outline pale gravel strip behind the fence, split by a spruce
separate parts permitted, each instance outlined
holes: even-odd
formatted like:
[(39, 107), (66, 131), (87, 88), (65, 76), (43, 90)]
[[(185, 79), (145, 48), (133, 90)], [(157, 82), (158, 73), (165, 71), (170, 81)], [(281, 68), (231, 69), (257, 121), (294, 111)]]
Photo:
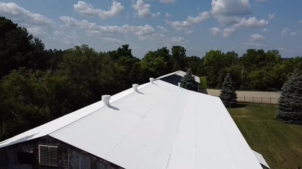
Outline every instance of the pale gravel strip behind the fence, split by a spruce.
[[(207, 89), (208, 94), (219, 96), (220, 90)], [(238, 97), (274, 97), (279, 98), (280, 92), (261, 92), (261, 91), (236, 91)]]

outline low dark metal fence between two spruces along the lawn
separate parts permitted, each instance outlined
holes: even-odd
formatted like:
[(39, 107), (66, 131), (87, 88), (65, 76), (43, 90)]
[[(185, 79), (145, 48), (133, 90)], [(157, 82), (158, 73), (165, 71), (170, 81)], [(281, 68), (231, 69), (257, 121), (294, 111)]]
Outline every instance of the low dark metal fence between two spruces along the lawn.
[(237, 101), (242, 103), (277, 104), (277, 97), (247, 97), (237, 96)]

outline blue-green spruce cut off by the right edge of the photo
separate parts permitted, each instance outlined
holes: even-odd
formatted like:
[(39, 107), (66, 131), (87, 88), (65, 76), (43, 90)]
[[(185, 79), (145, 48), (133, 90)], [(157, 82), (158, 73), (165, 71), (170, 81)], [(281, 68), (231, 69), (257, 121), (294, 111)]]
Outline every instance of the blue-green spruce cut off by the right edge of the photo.
[(302, 125), (302, 74), (298, 69), (284, 83), (277, 108), (277, 120)]

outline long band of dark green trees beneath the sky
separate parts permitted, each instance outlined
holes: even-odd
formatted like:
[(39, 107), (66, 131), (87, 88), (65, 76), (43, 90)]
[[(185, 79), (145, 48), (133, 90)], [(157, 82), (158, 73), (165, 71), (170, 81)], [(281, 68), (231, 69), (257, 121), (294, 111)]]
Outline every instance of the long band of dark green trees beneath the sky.
[(230, 73), (236, 89), (267, 90), (280, 88), (294, 68), (301, 70), (302, 58), (282, 60), (277, 50), (255, 49), (242, 57), (219, 50), (189, 57), (184, 47), (173, 46), (139, 59), (127, 44), (108, 52), (88, 45), (45, 49), (41, 39), (0, 16), (0, 140), (97, 102), (101, 95), (189, 68), (206, 76), (209, 87), (220, 88)]

